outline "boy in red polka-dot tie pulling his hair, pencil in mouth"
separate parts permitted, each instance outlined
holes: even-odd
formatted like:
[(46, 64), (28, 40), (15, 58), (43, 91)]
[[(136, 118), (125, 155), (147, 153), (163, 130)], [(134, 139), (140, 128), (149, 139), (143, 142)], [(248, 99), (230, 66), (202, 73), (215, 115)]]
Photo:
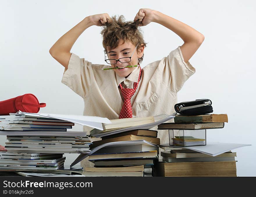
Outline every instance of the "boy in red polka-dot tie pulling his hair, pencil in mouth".
[[(150, 22), (172, 30), (184, 44), (141, 69), (146, 43), (138, 26)], [(103, 70), (109, 66), (92, 64), (70, 53), (81, 33), (93, 25), (104, 26), (101, 33), (105, 61), (112, 70)], [(200, 32), (176, 19), (156, 10), (140, 9), (134, 22), (124, 22), (122, 16), (111, 19), (108, 14), (88, 16), (58, 39), (49, 52), (65, 67), (62, 83), (83, 98), (83, 115), (109, 119), (147, 117), (175, 112), (177, 92), (195, 72), (188, 61), (203, 40)], [(152, 129), (157, 130), (157, 126)], [(91, 128), (85, 126), (83, 130)], [(167, 131), (159, 131), (158, 137), (161, 143), (168, 143)], [(90, 162), (85, 165), (90, 166)]]

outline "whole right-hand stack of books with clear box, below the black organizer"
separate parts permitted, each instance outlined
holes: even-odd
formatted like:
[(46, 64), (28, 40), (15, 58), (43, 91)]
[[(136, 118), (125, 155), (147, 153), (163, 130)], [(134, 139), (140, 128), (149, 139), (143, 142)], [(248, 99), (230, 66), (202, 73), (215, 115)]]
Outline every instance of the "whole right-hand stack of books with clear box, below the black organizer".
[[(223, 128), (224, 122), (227, 121), (227, 114), (176, 115), (174, 123), (158, 125), (158, 129), (169, 129), (169, 135), (174, 133), (173, 130), (182, 130), (183, 135), (173, 134), (170, 137), (169, 145), (172, 147), (169, 147), (168, 151), (161, 152), (162, 160), (156, 163), (154, 176), (237, 176), (235, 152), (227, 151), (211, 156), (185, 148), (207, 145), (206, 129)], [(205, 130), (205, 138), (195, 137), (199, 130)], [(190, 131), (191, 136), (184, 135), (185, 131)], [(214, 149), (212, 144), (209, 146)]]

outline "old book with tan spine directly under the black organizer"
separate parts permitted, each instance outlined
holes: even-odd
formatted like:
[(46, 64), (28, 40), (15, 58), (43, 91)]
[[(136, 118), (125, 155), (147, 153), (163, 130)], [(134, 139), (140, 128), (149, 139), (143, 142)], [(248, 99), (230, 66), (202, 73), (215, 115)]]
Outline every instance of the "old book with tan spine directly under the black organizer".
[(189, 122), (228, 122), (227, 114), (205, 114), (205, 115), (176, 115), (175, 123)]

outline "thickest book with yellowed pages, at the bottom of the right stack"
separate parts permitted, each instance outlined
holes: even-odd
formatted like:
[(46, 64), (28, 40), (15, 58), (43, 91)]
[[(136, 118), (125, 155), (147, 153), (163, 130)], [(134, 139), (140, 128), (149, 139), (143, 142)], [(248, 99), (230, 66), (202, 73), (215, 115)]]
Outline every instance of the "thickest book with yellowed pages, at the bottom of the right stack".
[(237, 176), (236, 161), (156, 162), (154, 176)]

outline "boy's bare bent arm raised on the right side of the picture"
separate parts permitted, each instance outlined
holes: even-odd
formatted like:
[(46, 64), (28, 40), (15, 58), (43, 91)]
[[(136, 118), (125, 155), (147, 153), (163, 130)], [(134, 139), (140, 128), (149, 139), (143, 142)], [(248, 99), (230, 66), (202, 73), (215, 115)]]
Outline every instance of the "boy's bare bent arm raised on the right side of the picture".
[(186, 63), (198, 50), (205, 39), (204, 35), (192, 27), (156, 10), (140, 9), (134, 18), (134, 21), (138, 19), (141, 21), (141, 26), (145, 26), (150, 22), (156, 22), (172, 30), (179, 37), (181, 37), (184, 44), (180, 47), (180, 49)]

